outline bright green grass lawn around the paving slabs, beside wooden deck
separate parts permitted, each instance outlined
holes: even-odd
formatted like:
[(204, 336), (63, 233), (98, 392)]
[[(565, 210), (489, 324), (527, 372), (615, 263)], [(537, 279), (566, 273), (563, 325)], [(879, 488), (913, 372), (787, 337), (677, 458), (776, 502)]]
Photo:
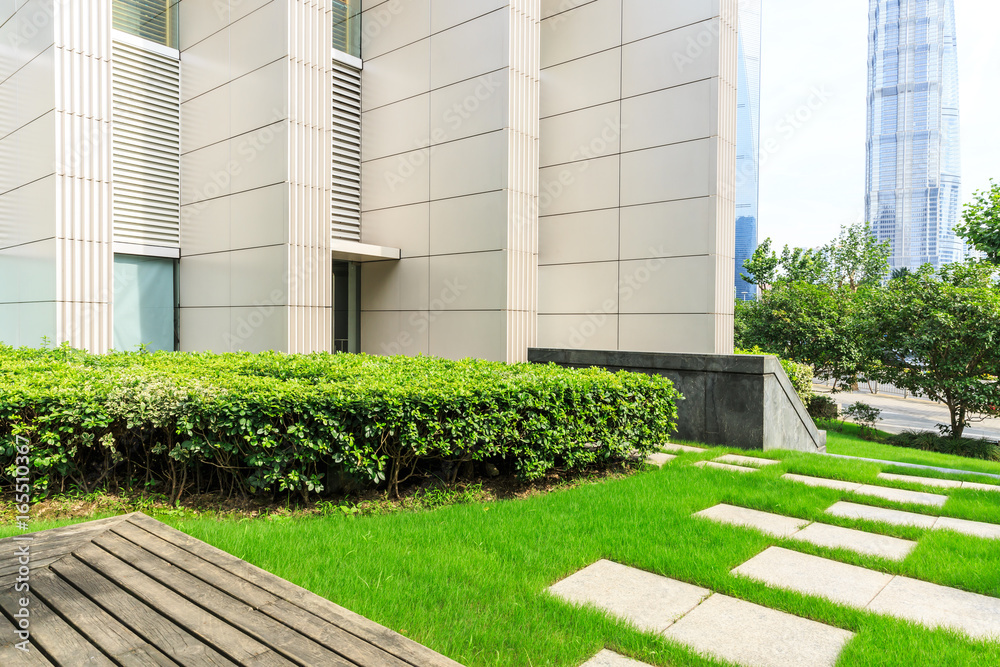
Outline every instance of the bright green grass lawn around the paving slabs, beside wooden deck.
[[(831, 436), (843, 444), (850, 433)], [(733, 450), (684, 454), (662, 470), (523, 500), (433, 511), (270, 520), (159, 518), (469, 667), (576, 666), (604, 647), (662, 667), (722, 664), (545, 592), (600, 558), (855, 632), (840, 667), (1000, 664), (998, 643), (927, 630), (730, 574), (766, 547), (779, 545), (1000, 597), (1000, 541), (824, 514), (834, 502), (852, 499), (1000, 523), (1000, 493), (950, 490), (944, 508), (929, 509), (780, 479), (784, 472), (796, 472), (871, 482), (889, 467), (880, 464), (766, 452), (762, 456), (780, 459), (782, 465), (752, 475), (690, 465), (724, 451)], [(910, 452), (892, 448), (891, 453), (898, 458)], [(860, 527), (919, 544), (906, 560), (893, 562), (692, 517), (720, 502)], [(35, 526), (42, 527), (49, 526)], [(2, 535), (11, 532), (0, 530)]]

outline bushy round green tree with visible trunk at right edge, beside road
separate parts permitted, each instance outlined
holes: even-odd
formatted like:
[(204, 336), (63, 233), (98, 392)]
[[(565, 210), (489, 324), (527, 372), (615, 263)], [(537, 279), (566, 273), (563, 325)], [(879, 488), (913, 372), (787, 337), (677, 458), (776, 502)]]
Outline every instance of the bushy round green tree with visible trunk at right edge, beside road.
[(951, 433), (1000, 405), (1000, 290), (981, 262), (925, 266), (862, 299), (858, 333), (880, 363), (867, 369), (948, 406)]

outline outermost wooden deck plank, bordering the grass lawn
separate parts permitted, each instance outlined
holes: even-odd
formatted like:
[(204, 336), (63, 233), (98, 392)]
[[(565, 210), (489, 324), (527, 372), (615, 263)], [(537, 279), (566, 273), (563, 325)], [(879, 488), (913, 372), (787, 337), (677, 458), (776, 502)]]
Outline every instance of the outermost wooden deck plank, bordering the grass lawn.
[(360, 614), (334, 604), (324, 597), (296, 586), (266, 570), (251, 565), (221, 549), (171, 528), (145, 514), (133, 514), (129, 521), (142, 526), (154, 535), (190, 551), (221, 568), (251, 581), (264, 590), (323, 618), (347, 632), (378, 646), (394, 656), (417, 667), (462, 667), (461, 664), (436, 653), (422, 644), (393, 632)]

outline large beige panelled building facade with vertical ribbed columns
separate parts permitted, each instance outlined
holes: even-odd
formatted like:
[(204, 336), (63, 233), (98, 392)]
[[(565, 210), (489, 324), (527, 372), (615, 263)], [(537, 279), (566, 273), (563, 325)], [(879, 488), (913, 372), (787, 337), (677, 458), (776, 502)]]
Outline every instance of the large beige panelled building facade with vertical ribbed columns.
[(0, 341), (730, 352), (736, 5), (0, 2)]

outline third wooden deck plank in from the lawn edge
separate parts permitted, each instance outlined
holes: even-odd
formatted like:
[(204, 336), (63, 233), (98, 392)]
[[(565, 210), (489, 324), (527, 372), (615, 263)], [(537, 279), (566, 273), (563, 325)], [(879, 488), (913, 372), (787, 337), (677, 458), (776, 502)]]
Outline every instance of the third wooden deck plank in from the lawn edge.
[(128, 562), (135, 569), (183, 595), (202, 609), (211, 610), (213, 614), (226, 619), (233, 627), (239, 628), (292, 660), (304, 665), (354, 667), (353, 663), (348, 662), (330, 649), (252, 609), (184, 570), (174, 567), (171, 563), (136, 546), (123, 537), (113, 533), (105, 533), (95, 539), (94, 543)]

